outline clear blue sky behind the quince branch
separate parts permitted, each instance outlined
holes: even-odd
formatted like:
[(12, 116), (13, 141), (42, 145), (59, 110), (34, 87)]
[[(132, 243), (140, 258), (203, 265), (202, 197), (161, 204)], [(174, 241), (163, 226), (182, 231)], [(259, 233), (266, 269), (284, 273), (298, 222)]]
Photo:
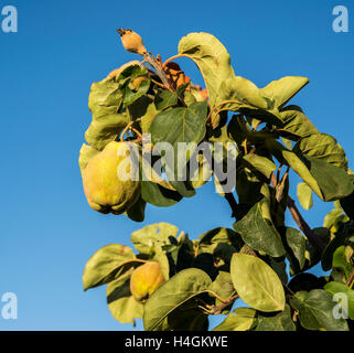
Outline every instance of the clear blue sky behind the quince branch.
[[(232, 226), (212, 184), (173, 207), (149, 206), (142, 224), (87, 205), (77, 158), (90, 122), (89, 87), (136, 58), (124, 51), (119, 26), (136, 30), (163, 57), (175, 54), (189, 32), (210, 32), (229, 51), (237, 75), (258, 86), (309, 77), (293, 103), (337, 138), (353, 168), (353, 1), (0, 0), (0, 10), (6, 4), (18, 8), (19, 32), (0, 31), (0, 298), (17, 293), (19, 318), (0, 315), (0, 330), (131, 330), (110, 315), (105, 288), (83, 291), (89, 256), (106, 244), (129, 245), (131, 232), (155, 222), (173, 223), (192, 238)], [(348, 9), (348, 33), (332, 31), (337, 4)], [(331, 206), (317, 200), (305, 214), (310, 225), (321, 226)]]

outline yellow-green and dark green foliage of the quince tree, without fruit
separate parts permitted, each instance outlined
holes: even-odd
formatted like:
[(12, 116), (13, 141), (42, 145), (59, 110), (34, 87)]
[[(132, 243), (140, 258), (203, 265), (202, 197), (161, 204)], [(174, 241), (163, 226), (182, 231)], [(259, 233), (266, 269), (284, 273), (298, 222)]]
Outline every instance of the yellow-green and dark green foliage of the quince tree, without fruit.
[[(128, 38), (122, 41), (139, 52)], [(147, 204), (173, 206), (194, 196), (213, 175), (235, 222), (233, 228), (211, 229), (197, 239), (171, 224), (148, 225), (131, 234), (135, 249), (118, 244), (98, 249), (86, 264), (84, 289), (108, 285), (115, 319), (142, 318), (146, 330), (205, 331), (208, 318), (218, 314), (225, 319), (215, 331), (353, 328), (354, 176), (335, 138), (321, 133), (300, 107), (288, 105), (309, 79), (287, 76), (258, 88), (235, 75), (226, 49), (208, 33), (184, 36), (179, 54), (164, 63), (148, 52), (141, 55), (151, 67), (128, 63), (93, 84), (82, 173), (111, 141), (132, 141), (140, 153), (140, 196), (128, 200), (126, 216), (142, 222)], [(197, 65), (206, 90), (172, 61), (181, 56)], [(151, 135), (149, 143), (143, 133)], [(159, 142), (172, 146), (172, 157), (158, 150), (152, 161), (146, 160), (143, 152)], [(195, 145), (181, 156), (179, 142)], [(195, 148), (203, 142), (211, 146), (212, 163)], [(235, 191), (226, 190), (221, 178), (230, 156)], [(193, 158), (196, 168), (185, 172)], [(161, 162), (161, 173), (146, 175), (142, 167), (155, 162)], [(173, 178), (181, 172), (185, 180)], [(313, 206), (313, 195), (334, 202), (322, 227), (310, 228), (289, 195), (293, 173), (301, 179), (297, 197), (303, 208)], [(298, 228), (286, 225), (287, 210)], [(131, 275), (152, 261), (165, 281), (146, 301), (137, 301)], [(328, 276), (307, 272), (318, 264)], [(346, 307), (336, 301), (337, 293), (345, 295)], [(248, 307), (237, 307), (239, 299)]]

